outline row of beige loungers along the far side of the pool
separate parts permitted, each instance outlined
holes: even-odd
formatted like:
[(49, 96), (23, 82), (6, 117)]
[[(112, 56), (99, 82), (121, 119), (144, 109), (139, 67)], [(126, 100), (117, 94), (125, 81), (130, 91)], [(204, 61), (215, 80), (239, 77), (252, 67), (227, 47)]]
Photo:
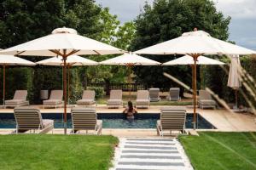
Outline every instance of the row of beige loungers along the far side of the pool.
[[(122, 99), (122, 90), (111, 90), (110, 98), (108, 99), (107, 106), (108, 108), (119, 108), (123, 106)], [(179, 88), (170, 88), (170, 94), (167, 97), (169, 100), (180, 100), (179, 97), (180, 90)], [(16, 90), (14, 99), (6, 100), (4, 107), (16, 107), (22, 105), (29, 105), (29, 102), (26, 100), (27, 91), (26, 90)], [(211, 94), (206, 90), (199, 91), (199, 105), (203, 108), (216, 108), (216, 102), (212, 99)], [(63, 105), (63, 91), (62, 90), (52, 90), (49, 96), (49, 99), (43, 101), (43, 108), (46, 107), (60, 107)], [(159, 88), (149, 88), (148, 90), (138, 90), (136, 106), (137, 108), (148, 108), (150, 101), (160, 101), (160, 89)], [(93, 90), (84, 90), (82, 99), (77, 101), (77, 105), (96, 105), (95, 100), (95, 91)]]

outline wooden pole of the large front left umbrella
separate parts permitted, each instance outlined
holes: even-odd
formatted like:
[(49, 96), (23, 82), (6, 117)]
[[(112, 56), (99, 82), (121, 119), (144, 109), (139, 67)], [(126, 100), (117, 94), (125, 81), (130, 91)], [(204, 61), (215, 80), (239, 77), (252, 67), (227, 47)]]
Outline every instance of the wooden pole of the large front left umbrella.
[(63, 95), (64, 95), (64, 134), (67, 134), (67, 56), (64, 54), (62, 56), (64, 61), (64, 68), (63, 68)]

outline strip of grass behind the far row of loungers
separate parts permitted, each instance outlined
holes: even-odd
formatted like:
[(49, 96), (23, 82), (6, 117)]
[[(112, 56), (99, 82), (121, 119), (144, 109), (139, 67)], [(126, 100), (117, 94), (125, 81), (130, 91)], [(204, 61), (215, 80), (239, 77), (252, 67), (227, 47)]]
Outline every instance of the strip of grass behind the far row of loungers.
[[(109, 99), (109, 96), (103, 96), (100, 99), (97, 99), (97, 104), (106, 105), (108, 99)], [(131, 95), (131, 98), (129, 98), (129, 95), (127, 94), (123, 95), (123, 101), (125, 105), (129, 100), (131, 100), (132, 103), (135, 105), (136, 95)], [(181, 101), (169, 101), (167, 99), (161, 99), (158, 102), (150, 102), (150, 105), (192, 105), (192, 101), (191, 99), (182, 99)]]

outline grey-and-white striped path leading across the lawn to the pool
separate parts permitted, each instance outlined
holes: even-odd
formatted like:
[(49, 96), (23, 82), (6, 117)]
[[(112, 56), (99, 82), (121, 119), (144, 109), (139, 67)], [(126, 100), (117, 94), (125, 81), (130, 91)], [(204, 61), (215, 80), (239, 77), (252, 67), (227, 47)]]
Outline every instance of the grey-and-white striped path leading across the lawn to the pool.
[(120, 138), (111, 170), (192, 170), (177, 139)]

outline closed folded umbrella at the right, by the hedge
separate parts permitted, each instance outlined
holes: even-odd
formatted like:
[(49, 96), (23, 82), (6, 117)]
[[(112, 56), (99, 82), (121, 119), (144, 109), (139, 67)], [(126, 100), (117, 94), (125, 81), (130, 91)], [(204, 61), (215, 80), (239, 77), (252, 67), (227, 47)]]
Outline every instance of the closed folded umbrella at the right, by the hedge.
[(237, 100), (238, 100), (238, 89), (241, 87), (241, 64), (239, 55), (230, 55), (230, 72), (228, 79), (228, 86), (235, 90), (236, 95), (236, 105), (234, 109), (237, 109)]

